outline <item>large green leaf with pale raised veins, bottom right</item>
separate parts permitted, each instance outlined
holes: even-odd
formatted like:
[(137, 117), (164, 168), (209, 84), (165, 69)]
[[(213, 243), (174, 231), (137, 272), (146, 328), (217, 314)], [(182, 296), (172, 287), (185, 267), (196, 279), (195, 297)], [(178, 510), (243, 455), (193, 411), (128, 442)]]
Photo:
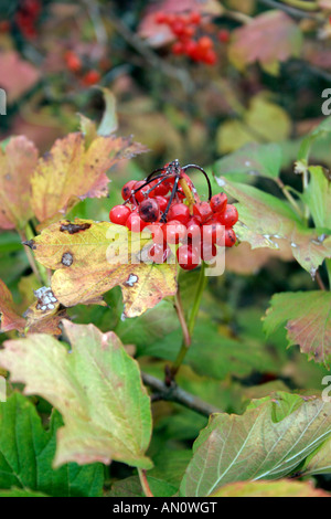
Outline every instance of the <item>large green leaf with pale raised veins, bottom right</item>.
[(181, 496), (209, 496), (236, 481), (293, 473), (331, 436), (331, 403), (275, 393), (242, 415), (214, 414), (193, 446)]

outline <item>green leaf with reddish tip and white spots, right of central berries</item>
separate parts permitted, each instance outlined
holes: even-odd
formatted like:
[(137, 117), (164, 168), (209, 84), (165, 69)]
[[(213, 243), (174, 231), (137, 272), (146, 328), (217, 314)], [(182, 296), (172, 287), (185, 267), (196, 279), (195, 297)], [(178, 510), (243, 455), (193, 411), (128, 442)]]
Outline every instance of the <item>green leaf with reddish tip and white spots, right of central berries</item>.
[(278, 239), (287, 240), (293, 257), (314, 277), (325, 257), (331, 257), (331, 236), (321, 229), (306, 227), (295, 211), (284, 201), (253, 186), (218, 179), (226, 193), (239, 201), (239, 222), (235, 231), (252, 248), (279, 248)]

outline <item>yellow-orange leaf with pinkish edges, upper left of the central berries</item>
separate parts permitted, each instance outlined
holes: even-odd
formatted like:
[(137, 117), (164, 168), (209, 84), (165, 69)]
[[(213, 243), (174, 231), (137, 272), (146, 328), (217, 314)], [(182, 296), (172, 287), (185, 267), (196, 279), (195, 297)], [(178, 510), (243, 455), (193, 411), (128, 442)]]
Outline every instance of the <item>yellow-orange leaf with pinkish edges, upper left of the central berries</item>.
[(124, 158), (146, 151), (122, 137), (95, 138), (86, 149), (85, 136), (70, 134), (57, 139), (41, 158), (31, 179), (32, 208), (40, 222), (65, 213), (81, 200), (106, 197), (107, 171)]

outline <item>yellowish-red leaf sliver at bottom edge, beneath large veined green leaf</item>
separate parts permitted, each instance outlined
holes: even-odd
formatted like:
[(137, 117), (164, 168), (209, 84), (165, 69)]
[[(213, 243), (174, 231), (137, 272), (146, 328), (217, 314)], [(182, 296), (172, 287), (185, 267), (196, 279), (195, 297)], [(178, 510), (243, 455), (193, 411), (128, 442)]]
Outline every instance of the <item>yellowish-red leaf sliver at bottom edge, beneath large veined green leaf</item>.
[(313, 488), (308, 483), (291, 481), (255, 481), (234, 483), (220, 488), (210, 497), (331, 497), (324, 490)]

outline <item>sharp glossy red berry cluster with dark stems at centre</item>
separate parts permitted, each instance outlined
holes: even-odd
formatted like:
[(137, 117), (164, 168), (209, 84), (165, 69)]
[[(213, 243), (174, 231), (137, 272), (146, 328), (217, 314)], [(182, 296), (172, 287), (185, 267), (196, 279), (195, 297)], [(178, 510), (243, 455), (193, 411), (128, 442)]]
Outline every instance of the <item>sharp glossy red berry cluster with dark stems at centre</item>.
[[(121, 190), (124, 204), (110, 210), (110, 222), (126, 225), (130, 231), (148, 230), (152, 237), (150, 260), (164, 263), (171, 250), (180, 244), (177, 257), (180, 266), (191, 271), (202, 261), (212, 261), (216, 245), (232, 247), (236, 243), (233, 225), (238, 220), (234, 205), (225, 193), (201, 201), (193, 182), (185, 173), (195, 165), (180, 167), (179, 161), (153, 171), (146, 180), (127, 182)], [(211, 184), (209, 182), (210, 195)]]

